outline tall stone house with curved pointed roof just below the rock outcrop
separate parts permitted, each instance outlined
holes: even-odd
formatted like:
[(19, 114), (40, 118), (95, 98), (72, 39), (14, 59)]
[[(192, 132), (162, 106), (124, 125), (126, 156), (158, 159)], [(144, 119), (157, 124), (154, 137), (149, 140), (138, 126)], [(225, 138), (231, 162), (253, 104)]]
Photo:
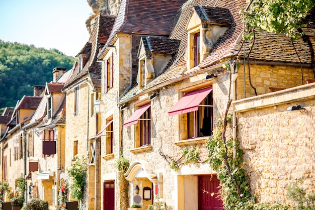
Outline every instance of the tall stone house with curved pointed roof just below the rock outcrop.
[[(106, 43), (115, 17), (98, 16), (90, 39), (77, 54), (62, 92), (66, 93), (66, 133), (64, 172), (71, 167), (76, 155), (88, 159), (86, 196), (83, 205), (87, 209), (100, 209), (100, 142), (96, 135), (101, 130), (101, 119), (94, 111), (94, 101), (101, 91), (101, 63), (97, 53)], [(70, 183), (71, 184), (71, 183)], [(74, 201), (71, 197), (69, 201)]]

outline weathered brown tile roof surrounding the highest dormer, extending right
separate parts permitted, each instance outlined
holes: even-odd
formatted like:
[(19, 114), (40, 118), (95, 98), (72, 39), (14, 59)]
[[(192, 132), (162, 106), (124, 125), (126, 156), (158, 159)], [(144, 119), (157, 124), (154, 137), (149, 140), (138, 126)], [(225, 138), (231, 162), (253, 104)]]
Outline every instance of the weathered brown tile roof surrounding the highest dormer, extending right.
[[(216, 9), (217, 11), (225, 8), (224, 10), (226, 11), (226, 9), (228, 9), (231, 14), (231, 24), (229, 25), (229, 28), (215, 43), (213, 51), (199, 64), (196, 71), (220, 63), (221, 60), (235, 58), (238, 54), (242, 47), (242, 39), (240, 39), (240, 37), (243, 33), (243, 24), (239, 11), (240, 6), (246, 7), (246, 0), (188, 0), (176, 15), (172, 33), (169, 37), (170, 39), (177, 39), (181, 41), (178, 53), (173, 56), (164, 72), (142, 88), (141, 92), (147, 91), (150, 88), (156, 88), (157, 85), (162, 83), (165, 84), (168, 81), (170, 83), (171, 81), (176, 81), (177, 79), (179, 80), (187, 70), (184, 56), (187, 50), (187, 31), (185, 30), (185, 26), (193, 6), (202, 6), (202, 8), (218, 8)], [(206, 12), (207, 16), (211, 16), (209, 11), (210, 10), (208, 10), (208, 13)], [(214, 18), (214, 20), (217, 19), (218, 18)], [(314, 37), (310, 37), (310, 39), (312, 42), (315, 41)], [(248, 45), (249, 43), (245, 44), (246, 51), (249, 51)], [(302, 39), (297, 39), (295, 40), (294, 46), (297, 48), (301, 62), (310, 63), (310, 53), (306, 43), (303, 43)], [(299, 58), (296, 55), (293, 45), (289, 41), (288, 37), (265, 32), (256, 33), (255, 44), (250, 54), (250, 59), (276, 62), (299, 62)], [(137, 92), (137, 87), (135, 85), (121, 97), (120, 102), (134, 97), (137, 93), (139, 92)]]

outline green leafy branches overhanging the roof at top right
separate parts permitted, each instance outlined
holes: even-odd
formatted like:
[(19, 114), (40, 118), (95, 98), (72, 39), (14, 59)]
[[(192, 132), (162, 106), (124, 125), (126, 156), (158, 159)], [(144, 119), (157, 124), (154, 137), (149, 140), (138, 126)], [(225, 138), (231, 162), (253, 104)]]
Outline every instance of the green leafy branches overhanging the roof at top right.
[(247, 0), (248, 7), (242, 8), (245, 23), (245, 39), (254, 35), (254, 30), (283, 33), (295, 39), (302, 34), (297, 29), (305, 27), (304, 19), (314, 6), (314, 0)]

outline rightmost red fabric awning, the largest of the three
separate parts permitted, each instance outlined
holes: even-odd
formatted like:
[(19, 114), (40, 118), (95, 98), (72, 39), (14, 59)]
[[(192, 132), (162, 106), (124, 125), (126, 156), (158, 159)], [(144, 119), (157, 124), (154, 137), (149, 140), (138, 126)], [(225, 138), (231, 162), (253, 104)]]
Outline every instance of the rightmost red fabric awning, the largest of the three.
[(185, 94), (169, 111), (169, 116), (190, 113), (198, 110), (198, 105), (212, 91), (212, 86)]

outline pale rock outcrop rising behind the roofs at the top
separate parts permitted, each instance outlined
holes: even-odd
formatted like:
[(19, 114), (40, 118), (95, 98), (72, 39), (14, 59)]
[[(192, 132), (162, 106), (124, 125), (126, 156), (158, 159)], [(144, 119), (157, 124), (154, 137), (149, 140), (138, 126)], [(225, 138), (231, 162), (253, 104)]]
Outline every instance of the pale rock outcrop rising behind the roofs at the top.
[(92, 8), (93, 14), (86, 21), (87, 29), (91, 34), (98, 14), (117, 15), (121, 0), (87, 0)]

